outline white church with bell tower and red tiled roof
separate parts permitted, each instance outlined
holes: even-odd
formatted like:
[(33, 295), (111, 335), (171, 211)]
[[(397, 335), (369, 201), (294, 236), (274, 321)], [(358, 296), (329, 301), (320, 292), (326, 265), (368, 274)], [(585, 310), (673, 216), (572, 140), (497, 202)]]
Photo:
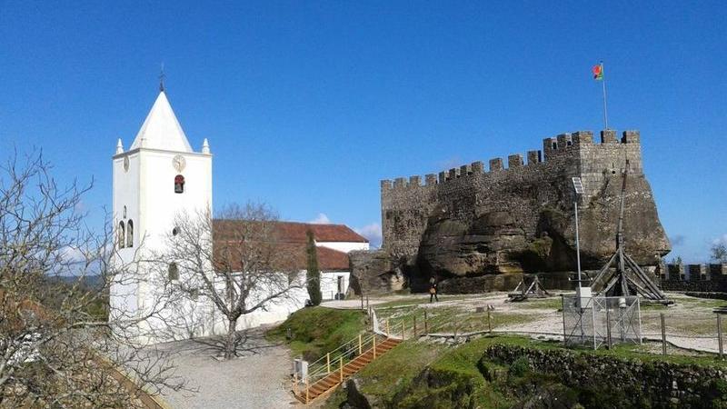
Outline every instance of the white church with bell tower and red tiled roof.
[[(113, 262), (134, 266), (134, 275), (141, 279), (119, 280), (112, 284), (112, 319), (145, 316), (144, 311), (154, 303), (154, 294), (162, 291), (156, 288), (162, 284), (150, 278), (159, 272), (145, 264), (144, 257), (168, 251), (166, 246), (170, 244), (166, 237), (175, 228), (176, 214), (200, 214), (213, 208), (212, 159), (206, 138), (199, 151), (195, 152), (190, 145), (169, 104), (164, 86), (160, 87), (159, 95), (129, 149), (124, 150), (122, 140), (118, 140), (113, 156), (116, 245)], [(276, 229), (284, 234), (287, 244), (301, 249), (306, 244), (306, 232), (313, 232), (324, 300), (346, 294), (350, 273), (347, 253), (367, 250), (368, 240), (343, 224), (276, 222)], [(210, 242), (214, 245), (214, 237)], [(299, 274), (304, 274), (304, 262), (301, 264)], [(285, 303), (267, 305), (242, 316), (237, 329), (284, 320), (302, 308), (308, 298), (305, 289), (291, 295)], [(155, 343), (226, 332), (224, 321), (215, 316), (212, 304), (202, 298), (196, 303), (188, 301), (165, 308), (162, 312), (166, 317), (164, 322), (192, 322), (194, 328), (170, 333), (162, 328), (161, 320), (148, 320), (138, 325), (140, 342)]]

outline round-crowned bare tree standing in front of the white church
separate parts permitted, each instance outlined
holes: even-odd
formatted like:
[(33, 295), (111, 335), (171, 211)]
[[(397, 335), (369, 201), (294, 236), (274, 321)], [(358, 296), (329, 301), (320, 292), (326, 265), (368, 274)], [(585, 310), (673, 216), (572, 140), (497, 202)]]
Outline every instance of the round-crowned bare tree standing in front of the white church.
[[(226, 334), (214, 339), (224, 359), (236, 356), (246, 314), (301, 299), (304, 248), (281, 240), (277, 214), (267, 205), (231, 205), (216, 220), (209, 211), (179, 214), (160, 254), (175, 265), (170, 281), (197, 303), (221, 315)], [(214, 239), (213, 239), (214, 237)]]

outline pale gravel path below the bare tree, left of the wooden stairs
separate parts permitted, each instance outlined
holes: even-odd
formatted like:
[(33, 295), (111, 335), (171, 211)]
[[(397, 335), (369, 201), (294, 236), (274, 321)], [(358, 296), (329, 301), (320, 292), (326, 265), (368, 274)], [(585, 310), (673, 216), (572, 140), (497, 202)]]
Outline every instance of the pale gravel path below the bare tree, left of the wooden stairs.
[(264, 339), (264, 328), (248, 332), (244, 356), (218, 361), (204, 344), (180, 341), (157, 345), (175, 354), (175, 375), (187, 380), (188, 391), (164, 391), (174, 409), (285, 408), (297, 403), (288, 392), (291, 357), (284, 346)]

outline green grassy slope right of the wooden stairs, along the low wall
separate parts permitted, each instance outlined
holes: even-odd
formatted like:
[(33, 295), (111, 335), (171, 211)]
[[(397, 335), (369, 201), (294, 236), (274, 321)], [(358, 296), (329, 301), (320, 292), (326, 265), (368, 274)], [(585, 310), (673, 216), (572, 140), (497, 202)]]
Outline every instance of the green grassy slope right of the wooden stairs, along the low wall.
[[(534, 349), (566, 349), (558, 342), (533, 340), (524, 336), (484, 336), (456, 347), (406, 341), (356, 374), (361, 392), (373, 407), (449, 408), (478, 407), (500, 409), (523, 403), (523, 396), (546, 392), (558, 399), (576, 402), (580, 389), (565, 386), (558, 374), (534, 373), (526, 365), (502, 365), (483, 354), (494, 344), (508, 344)], [(643, 363), (666, 361), (674, 364), (716, 366), (727, 364), (714, 356), (661, 356), (650, 354), (641, 345), (616, 345), (612, 350), (568, 349), (573, 354), (610, 355)], [(591, 393), (593, 391), (586, 391)], [(583, 399), (588, 396), (583, 395)], [(591, 396), (593, 397), (593, 396)], [(558, 399), (555, 399), (556, 401)], [(340, 407), (343, 390), (331, 396), (325, 408)]]

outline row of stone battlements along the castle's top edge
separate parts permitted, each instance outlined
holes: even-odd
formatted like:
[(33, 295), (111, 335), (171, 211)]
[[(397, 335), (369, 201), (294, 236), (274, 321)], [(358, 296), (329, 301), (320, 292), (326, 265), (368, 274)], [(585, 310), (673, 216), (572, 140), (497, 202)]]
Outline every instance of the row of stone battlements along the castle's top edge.
[[(632, 148), (638, 155), (631, 157), (631, 169), (641, 171), (641, 141), (639, 131), (629, 130), (623, 131), (621, 138), (616, 137), (616, 131), (612, 129), (601, 131), (601, 143), (593, 142), (592, 131), (576, 131), (570, 134), (561, 134), (554, 137), (543, 139), (542, 150), (528, 151), (527, 155), (513, 154), (507, 156), (507, 166), (501, 157), (495, 157), (488, 161), (489, 170), (484, 168), (483, 162), (477, 161), (469, 165), (462, 165), (458, 168), (452, 168), (439, 172), (438, 175), (428, 174), (413, 175), (407, 177), (397, 177), (393, 180), (384, 179), (381, 181), (381, 189), (387, 191), (390, 189), (413, 189), (418, 187), (430, 187), (433, 185), (441, 185), (463, 177), (473, 175), (483, 175), (498, 172), (519, 172), (526, 170), (531, 166), (541, 165), (544, 162), (553, 162), (562, 160), (563, 157), (572, 157), (582, 161), (590, 160), (591, 156), (597, 158), (600, 156), (604, 163), (611, 161), (611, 167), (616, 167), (616, 163), (622, 161), (622, 149)], [(589, 155), (582, 155), (588, 151)], [(622, 168), (623, 166), (618, 166)], [(422, 183), (423, 181), (423, 183)]]

